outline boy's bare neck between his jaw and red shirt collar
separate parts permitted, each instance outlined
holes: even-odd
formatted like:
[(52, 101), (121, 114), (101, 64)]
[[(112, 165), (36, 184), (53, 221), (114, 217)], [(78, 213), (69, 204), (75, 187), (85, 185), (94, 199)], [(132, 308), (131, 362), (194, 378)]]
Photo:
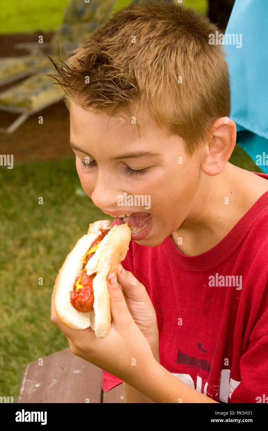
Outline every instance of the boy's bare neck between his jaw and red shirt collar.
[(177, 247), (186, 256), (204, 253), (214, 247), (244, 215), (240, 171), (247, 172), (227, 162), (219, 175), (200, 172), (196, 198), (184, 222), (172, 235), (176, 245), (178, 237), (182, 237), (182, 244)]

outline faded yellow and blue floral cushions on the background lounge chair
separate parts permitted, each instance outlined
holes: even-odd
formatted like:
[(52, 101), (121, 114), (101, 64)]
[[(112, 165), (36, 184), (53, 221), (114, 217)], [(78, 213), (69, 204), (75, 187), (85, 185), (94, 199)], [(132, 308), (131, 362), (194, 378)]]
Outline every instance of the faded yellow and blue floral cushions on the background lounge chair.
[[(66, 62), (70, 53), (77, 48), (87, 35), (97, 28), (114, 8), (115, 0), (72, 0), (65, 11), (64, 22), (55, 32), (50, 43), (50, 53), (59, 62), (60, 44), (62, 44), (63, 60)], [(29, 55), (0, 59), (0, 81), (6, 77), (17, 75), (31, 69), (39, 73), (25, 79), (18, 85), (9, 87), (0, 93), (0, 105), (14, 106), (26, 110), (38, 109), (44, 104), (54, 103), (63, 92), (51, 77), (40, 75), (43, 73), (56, 75), (54, 67), (44, 54), (43, 56)]]

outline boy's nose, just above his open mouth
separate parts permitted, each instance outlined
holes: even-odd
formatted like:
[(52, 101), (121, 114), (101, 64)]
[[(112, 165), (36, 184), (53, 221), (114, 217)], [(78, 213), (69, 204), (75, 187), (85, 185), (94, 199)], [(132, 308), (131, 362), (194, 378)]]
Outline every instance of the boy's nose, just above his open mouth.
[(91, 199), (98, 208), (109, 208), (114, 206), (118, 201), (118, 195), (122, 194), (118, 188), (118, 184), (111, 173), (104, 172), (99, 169), (98, 175), (91, 194)]

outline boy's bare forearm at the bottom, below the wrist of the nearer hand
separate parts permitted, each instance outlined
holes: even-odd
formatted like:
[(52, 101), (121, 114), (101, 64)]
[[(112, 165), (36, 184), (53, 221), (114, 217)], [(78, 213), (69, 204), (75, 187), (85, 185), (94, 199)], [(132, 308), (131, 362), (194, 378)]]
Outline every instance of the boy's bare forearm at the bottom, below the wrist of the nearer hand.
[[(167, 371), (154, 358), (143, 371), (144, 378), (131, 382), (151, 403), (217, 403)], [(151, 401), (152, 400), (152, 401)], [(132, 402), (132, 401), (127, 401)], [(142, 402), (142, 401), (141, 401)], [(145, 401), (146, 402), (146, 401)]]

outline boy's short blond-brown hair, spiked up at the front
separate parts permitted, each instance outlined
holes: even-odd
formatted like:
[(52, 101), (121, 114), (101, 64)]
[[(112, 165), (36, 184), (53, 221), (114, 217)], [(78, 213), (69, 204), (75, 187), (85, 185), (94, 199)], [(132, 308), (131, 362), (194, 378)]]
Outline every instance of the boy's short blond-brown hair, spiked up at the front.
[(53, 76), (68, 107), (135, 118), (138, 129), (148, 116), (192, 155), (216, 119), (230, 115), (225, 52), (209, 44), (218, 30), (175, 2), (130, 3), (90, 33), (68, 65), (53, 62)]

